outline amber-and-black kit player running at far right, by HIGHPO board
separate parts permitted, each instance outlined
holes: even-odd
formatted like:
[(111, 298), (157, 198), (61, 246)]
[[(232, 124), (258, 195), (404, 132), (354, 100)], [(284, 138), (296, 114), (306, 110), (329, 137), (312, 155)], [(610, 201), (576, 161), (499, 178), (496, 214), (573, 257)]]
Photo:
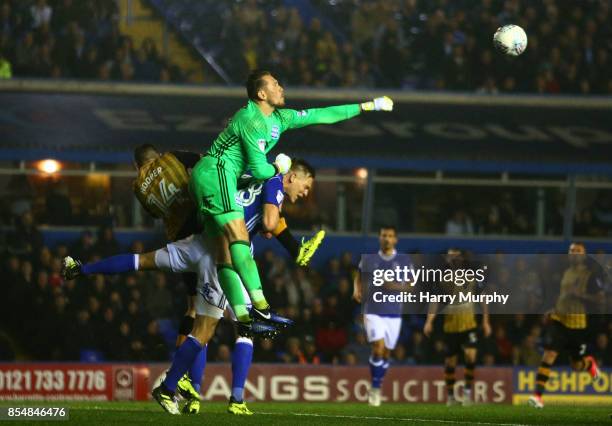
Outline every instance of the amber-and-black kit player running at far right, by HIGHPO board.
[(586, 254), (582, 243), (572, 243), (569, 247), (570, 266), (563, 272), (559, 298), (550, 315), (544, 354), (536, 376), (536, 390), (528, 401), (532, 407), (544, 408), (542, 394), (550, 369), (563, 350), (569, 352), (574, 370), (588, 371), (593, 382), (601, 377), (595, 358), (587, 352), (585, 304), (605, 300), (601, 287), (603, 277), (587, 263)]

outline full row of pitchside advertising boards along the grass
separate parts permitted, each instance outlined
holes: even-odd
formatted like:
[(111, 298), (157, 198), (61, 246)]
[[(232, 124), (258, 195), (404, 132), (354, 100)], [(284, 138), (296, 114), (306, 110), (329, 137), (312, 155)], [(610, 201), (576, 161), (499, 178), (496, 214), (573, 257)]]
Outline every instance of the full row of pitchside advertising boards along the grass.
[[(4, 363), (0, 364), (0, 400), (148, 400), (167, 364)], [(463, 376), (458, 369), (457, 377)], [(591, 385), (585, 372), (555, 369), (547, 384), (550, 403), (612, 403), (612, 370)], [(522, 404), (533, 392), (536, 370), (483, 367), (476, 370), (477, 403)], [(268, 402), (363, 402), (370, 385), (366, 366), (254, 364), (245, 386), (246, 399)], [(463, 382), (455, 391), (461, 397)], [(228, 364), (209, 364), (202, 382), (209, 401), (227, 400)], [(383, 400), (443, 403), (446, 389), (440, 366), (394, 366), (383, 386)]]

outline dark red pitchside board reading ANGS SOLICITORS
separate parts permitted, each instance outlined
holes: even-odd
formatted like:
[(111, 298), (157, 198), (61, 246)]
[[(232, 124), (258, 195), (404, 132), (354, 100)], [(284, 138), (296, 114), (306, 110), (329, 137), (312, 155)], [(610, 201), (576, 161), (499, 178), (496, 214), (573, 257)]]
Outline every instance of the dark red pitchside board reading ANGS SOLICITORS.
[[(166, 365), (151, 365), (151, 386)], [(512, 369), (477, 368), (476, 402), (511, 403)], [(463, 370), (457, 369), (457, 378)], [(231, 392), (229, 364), (206, 366), (202, 394), (206, 400), (227, 400)], [(254, 364), (245, 386), (245, 398), (256, 401), (367, 401), (370, 371), (367, 367)], [(455, 393), (461, 396), (463, 381)], [(383, 382), (383, 400), (388, 402), (446, 402), (443, 367), (391, 366)]]

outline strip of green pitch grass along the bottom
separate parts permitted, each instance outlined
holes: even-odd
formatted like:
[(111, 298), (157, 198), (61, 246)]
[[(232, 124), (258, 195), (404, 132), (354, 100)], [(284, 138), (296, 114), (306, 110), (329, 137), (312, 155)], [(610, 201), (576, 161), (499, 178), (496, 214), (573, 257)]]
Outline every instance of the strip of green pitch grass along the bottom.
[(547, 406), (536, 410), (527, 406), (475, 405), (451, 407), (435, 404), (389, 403), (368, 407), (356, 403), (250, 403), (253, 416), (226, 413), (227, 404), (205, 402), (199, 415), (170, 416), (153, 402), (8, 402), (8, 406), (70, 408), (68, 422), (29, 422), (41, 424), (158, 424), (158, 425), (328, 425), (328, 424), (416, 424), (416, 425), (611, 425), (612, 407)]

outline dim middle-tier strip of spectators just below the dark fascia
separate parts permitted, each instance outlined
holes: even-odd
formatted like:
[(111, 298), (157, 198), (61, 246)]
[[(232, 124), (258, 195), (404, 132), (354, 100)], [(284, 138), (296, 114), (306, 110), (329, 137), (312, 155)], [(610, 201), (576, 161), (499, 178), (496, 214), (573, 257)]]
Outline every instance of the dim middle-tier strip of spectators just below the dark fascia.
[[(5, 186), (2, 188), (2, 183)], [(364, 182), (356, 179), (343, 191), (349, 205), (361, 207)], [(536, 235), (537, 188), (453, 186), (409, 186), (377, 184), (372, 230), (392, 224), (400, 232), (446, 234), (448, 236)], [(338, 230), (337, 194), (333, 182), (319, 182), (312, 196), (284, 213), (296, 229)], [(543, 235), (563, 234), (566, 195), (546, 189)], [(130, 178), (39, 177), (15, 175), (0, 178), (0, 225), (13, 226), (29, 210), (43, 225), (140, 226), (156, 224), (146, 213), (137, 220)], [(347, 209), (348, 231), (361, 230), (362, 209)], [(612, 235), (612, 197), (609, 190), (578, 191), (573, 235)], [(1, 239), (0, 239), (1, 241)]]

